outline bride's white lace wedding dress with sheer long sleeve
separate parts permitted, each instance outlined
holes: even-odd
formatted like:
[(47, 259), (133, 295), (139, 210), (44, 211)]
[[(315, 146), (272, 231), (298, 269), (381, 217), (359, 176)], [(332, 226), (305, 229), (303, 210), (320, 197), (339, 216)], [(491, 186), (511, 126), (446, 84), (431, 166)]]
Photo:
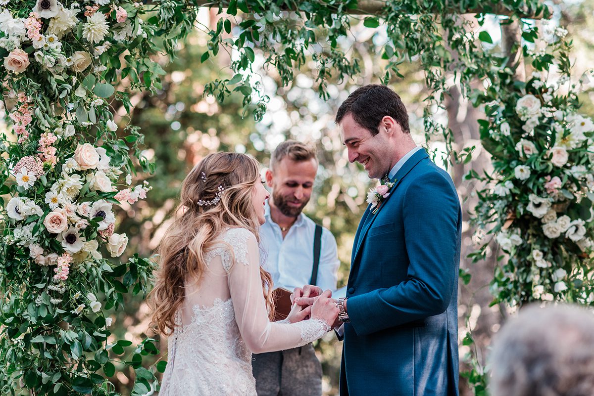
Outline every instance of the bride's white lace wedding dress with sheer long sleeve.
[(186, 285), (160, 395), (256, 396), (252, 352), (302, 346), (330, 327), (320, 320), (268, 320), (258, 245), (247, 229), (224, 232), (206, 262), (199, 285)]

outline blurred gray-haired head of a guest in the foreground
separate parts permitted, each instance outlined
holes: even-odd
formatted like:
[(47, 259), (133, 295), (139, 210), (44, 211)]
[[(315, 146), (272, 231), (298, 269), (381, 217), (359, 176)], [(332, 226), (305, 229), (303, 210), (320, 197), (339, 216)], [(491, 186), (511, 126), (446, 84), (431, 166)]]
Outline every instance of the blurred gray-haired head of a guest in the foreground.
[(522, 309), (495, 337), (490, 361), (492, 396), (594, 396), (594, 314)]

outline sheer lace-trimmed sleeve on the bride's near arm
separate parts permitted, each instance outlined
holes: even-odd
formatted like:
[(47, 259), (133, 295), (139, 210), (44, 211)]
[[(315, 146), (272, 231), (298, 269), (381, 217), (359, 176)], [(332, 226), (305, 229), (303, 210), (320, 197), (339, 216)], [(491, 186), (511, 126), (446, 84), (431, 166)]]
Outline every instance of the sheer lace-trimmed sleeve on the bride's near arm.
[[(248, 232), (249, 235), (245, 234)], [(235, 265), (229, 271), (229, 292), (235, 311), (235, 320), (245, 344), (254, 353), (290, 349), (317, 340), (330, 326), (321, 320), (308, 320), (299, 323), (270, 322), (260, 279), (260, 254), (258, 243), (251, 232), (244, 233), (245, 258), (242, 263), (241, 251), (235, 250)], [(228, 242), (231, 244), (231, 242)], [(235, 249), (235, 245), (233, 245)]]

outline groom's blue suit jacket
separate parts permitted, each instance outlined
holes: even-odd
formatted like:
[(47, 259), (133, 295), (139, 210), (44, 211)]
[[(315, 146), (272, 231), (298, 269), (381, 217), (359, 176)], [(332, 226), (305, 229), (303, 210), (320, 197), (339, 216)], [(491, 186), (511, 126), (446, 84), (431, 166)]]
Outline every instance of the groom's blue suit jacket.
[(458, 395), (460, 201), (424, 150), (394, 178), (355, 235), (340, 395)]

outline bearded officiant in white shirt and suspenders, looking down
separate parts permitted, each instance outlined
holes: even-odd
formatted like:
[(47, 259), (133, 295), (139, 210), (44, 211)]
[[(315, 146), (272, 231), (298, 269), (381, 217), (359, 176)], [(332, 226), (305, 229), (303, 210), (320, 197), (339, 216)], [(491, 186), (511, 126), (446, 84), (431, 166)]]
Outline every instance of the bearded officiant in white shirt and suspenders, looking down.
[[(270, 158), (266, 183), (271, 196), (266, 223), (260, 229), (264, 269), (276, 295), (276, 318), (290, 309), (289, 295), (303, 285), (336, 289), (336, 239), (328, 229), (302, 213), (314, 187), (318, 160), (315, 149), (295, 140), (280, 143)], [(254, 355), (258, 396), (321, 396), (322, 369), (312, 344)]]

